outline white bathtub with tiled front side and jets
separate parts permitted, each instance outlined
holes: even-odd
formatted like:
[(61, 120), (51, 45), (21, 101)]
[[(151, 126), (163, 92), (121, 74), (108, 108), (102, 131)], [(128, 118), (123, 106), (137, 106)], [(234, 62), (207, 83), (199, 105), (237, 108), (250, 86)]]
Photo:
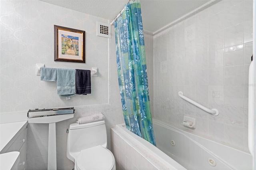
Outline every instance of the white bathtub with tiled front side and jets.
[[(124, 124), (111, 128), (111, 149), (120, 169), (134, 169), (127, 167), (130, 164), (137, 169), (252, 169), (252, 155), (247, 152), (188, 133), (156, 119), (153, 119), (153, 126), (157, 148), (127, 130)], [(134, 158), (136, 154), (140, 154), (137, 156), (140, 160)]]

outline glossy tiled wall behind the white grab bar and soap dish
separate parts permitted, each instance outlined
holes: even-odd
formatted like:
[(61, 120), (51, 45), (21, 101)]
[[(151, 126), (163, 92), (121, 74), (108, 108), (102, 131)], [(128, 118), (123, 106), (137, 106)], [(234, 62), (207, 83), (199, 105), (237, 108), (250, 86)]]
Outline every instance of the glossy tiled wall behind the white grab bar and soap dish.
[[(223, 0), (154, 35), (154, 118), (248, 150), (252, 0)], [(178, 97), (220, 112), (214, 117)]]

